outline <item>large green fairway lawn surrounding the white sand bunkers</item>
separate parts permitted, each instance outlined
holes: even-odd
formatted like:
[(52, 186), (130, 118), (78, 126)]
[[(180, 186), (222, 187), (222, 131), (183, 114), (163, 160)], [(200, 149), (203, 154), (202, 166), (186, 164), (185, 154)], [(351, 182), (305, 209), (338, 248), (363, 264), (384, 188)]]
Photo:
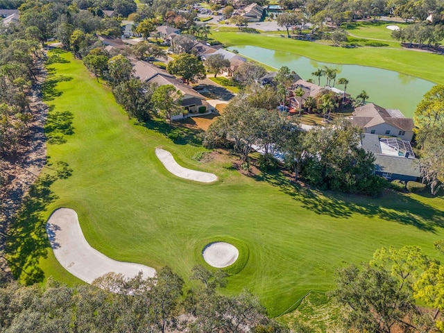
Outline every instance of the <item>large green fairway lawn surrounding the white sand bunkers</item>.
[[(45, 96), (51, 114), (72, 113), (72, 133), (61, 132), (48, 144), (45, 172), (54, 173), (57, 162), (72, 172), (58, 173), (35, 207), (43, 221), (58, 207), (76, 210), (89, 244), (113, 259), (169, 265), (188, 283), (191, 267), (202, 262), (203, 240), (237, 239), (248, 246), (248, 262), (229, 278), (225, 292), (250, 289), (278, 316), (307, 291), (331, 289), (334, 270), (344, 263), (368, 262), (377, 248), (389, 245), (416, 244), (434, 253), (433, 242), (444, 236), (443, 198), (320, 193), (296, 187), (280, 173), (243, 176), (223, 154), (198, 162), (194, 157), (205, 148), (185, 137), (190, 133), (174, 144), (165, 135), (167, 125), (128, 120), (110, 89), (80, 60), (70, 53), (60, 53), (60, 60), (50, 66), (56, 76)], [(157, 146), (185, 167), (216, 173), (219, 181), (202, 185), (172, 176), (157, 160)], [(38, 282), (53, 275), (77, 282), (53, 256), (44, 223), (31, 226), (12, 228), (8, 248), (17, 250), (10, 253), (15, 273), (20, 264), (26, 267), (21, 278), (35, 275)]]

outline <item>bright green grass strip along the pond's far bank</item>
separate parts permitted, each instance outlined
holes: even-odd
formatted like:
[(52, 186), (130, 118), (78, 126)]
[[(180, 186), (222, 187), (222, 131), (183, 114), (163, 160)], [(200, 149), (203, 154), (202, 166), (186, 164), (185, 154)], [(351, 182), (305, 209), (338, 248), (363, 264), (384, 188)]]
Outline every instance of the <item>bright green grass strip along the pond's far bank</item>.
[(219, 40), (225, 46), (260, 46), (266, 49), (296, 53), (316, 61), (378, 67), (416, 76), (438, 84), (444, 83), (444, 71), (436, 71), (436, 68), (442, 67), (443, 57), (432, 53), (382, 47), (345, 49), (254, 33), (213, 31), (212, 38)]

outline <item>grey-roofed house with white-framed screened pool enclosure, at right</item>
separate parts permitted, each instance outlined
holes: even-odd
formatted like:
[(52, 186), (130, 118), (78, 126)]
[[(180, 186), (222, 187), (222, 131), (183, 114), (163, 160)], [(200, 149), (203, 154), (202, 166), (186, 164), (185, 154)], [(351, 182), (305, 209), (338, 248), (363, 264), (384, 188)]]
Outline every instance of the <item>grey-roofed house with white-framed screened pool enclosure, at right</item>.
[(361, 135), (361, 146), (375, 155), (375, 174), (387, 180), (416, 181), (420, 178), (418, 160), (410, 142), (395, 137), (379, 139), (375, 134)]

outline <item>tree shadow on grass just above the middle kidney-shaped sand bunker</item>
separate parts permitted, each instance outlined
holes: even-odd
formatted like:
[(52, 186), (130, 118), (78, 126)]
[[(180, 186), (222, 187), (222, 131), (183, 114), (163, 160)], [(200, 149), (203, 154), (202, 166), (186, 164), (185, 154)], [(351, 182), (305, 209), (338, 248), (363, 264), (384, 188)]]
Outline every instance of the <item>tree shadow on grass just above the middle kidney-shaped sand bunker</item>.
[(168, 123), (161, 121), (146, 121), (145, 123), (142, 123), (145, 128), (155, 130), (157, 133), (171, 139), (175, 144), (190, 144), (191, 146), (202, 145), (202, 139), (200, 137), (202, 130), (187, 128), (177, 121), (173, 124), (174, 126), (169, 126)]

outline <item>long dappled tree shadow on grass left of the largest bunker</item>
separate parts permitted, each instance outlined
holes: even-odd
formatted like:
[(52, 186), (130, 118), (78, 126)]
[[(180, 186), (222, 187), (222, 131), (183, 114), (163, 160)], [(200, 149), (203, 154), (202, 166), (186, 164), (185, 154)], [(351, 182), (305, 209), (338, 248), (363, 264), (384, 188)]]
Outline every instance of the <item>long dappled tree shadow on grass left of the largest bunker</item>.
[(65, 162), (51, 167), (51, 174), (37, 178), (24, 198), (22, 206), (10, 222), (6, 239), (6, 258), (12, 274), (24, 284), (44, 280), (44, 272), (38, 264), (48, 255), (50, 246), (46, 234), (44, 211), (58, 197), (51, 185), (58, 179), (71, 176), (72, 170)]

